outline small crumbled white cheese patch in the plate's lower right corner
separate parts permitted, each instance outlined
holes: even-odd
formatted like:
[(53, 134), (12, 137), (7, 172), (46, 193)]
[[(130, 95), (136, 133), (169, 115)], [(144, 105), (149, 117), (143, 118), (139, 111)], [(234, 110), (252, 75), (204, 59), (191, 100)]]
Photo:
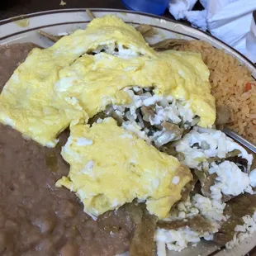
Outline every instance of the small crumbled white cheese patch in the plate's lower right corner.
[(249, 238), (256, 231), (256, 211), (253, 216), (246, 215), (243, 217), (244, 225), (235, 226), (235, 235), (233, 239), (225, 244), (227, 249), (233, 248), (235, 245), (242, 242), (244, 239)]

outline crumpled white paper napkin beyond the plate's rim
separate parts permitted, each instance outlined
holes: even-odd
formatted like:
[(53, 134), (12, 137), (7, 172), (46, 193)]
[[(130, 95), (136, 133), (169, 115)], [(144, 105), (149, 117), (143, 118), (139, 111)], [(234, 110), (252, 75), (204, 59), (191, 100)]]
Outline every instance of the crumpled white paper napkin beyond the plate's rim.
[(191, 11), (196, 2), (171, 0), (169, 11), (176, 19), (186, 19), (202, 31), (210, 31), (255, 63), (256, 0), (200, 0), (205, 10)]

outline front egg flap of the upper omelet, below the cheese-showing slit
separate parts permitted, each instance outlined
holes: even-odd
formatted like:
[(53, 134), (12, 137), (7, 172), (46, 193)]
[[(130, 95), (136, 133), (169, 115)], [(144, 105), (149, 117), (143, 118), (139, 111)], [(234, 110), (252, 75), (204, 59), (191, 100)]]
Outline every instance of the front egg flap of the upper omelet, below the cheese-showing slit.
[(159, 95), (190, 102), (200, 116), (199, 126), (211, 126), (216, 118), (215, 100), (208, 81), (209, 70), (201, 55), (168, 50), (155, 56), (123, 59), (100, 53), (83, 55), (72, 65), (59, 71), (55, 92), (63, 101), (75, 97), (89, 117), (108, 104), (122, 105), (130, 97), (122, 88), (137, 85), (154, 87)]

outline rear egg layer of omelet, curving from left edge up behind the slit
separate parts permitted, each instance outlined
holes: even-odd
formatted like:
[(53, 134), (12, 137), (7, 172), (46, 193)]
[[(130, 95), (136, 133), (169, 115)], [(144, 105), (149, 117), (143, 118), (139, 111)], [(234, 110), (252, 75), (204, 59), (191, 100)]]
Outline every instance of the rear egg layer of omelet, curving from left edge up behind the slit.
[(135, 55), (154, 55), (140, 32), (121, 19), (115, 16), (95, 19), (86, 30), (64, 36), (47, 49), (31, 51), (2, 90), (0, 121), (41, 145), (54, 147), (57, 135), (71, 122), (88, 120), (76, 98), (60, 98), (56, 102), (54, 86), (59, 71), (81, 55), (107, 45), (132, 49)]

